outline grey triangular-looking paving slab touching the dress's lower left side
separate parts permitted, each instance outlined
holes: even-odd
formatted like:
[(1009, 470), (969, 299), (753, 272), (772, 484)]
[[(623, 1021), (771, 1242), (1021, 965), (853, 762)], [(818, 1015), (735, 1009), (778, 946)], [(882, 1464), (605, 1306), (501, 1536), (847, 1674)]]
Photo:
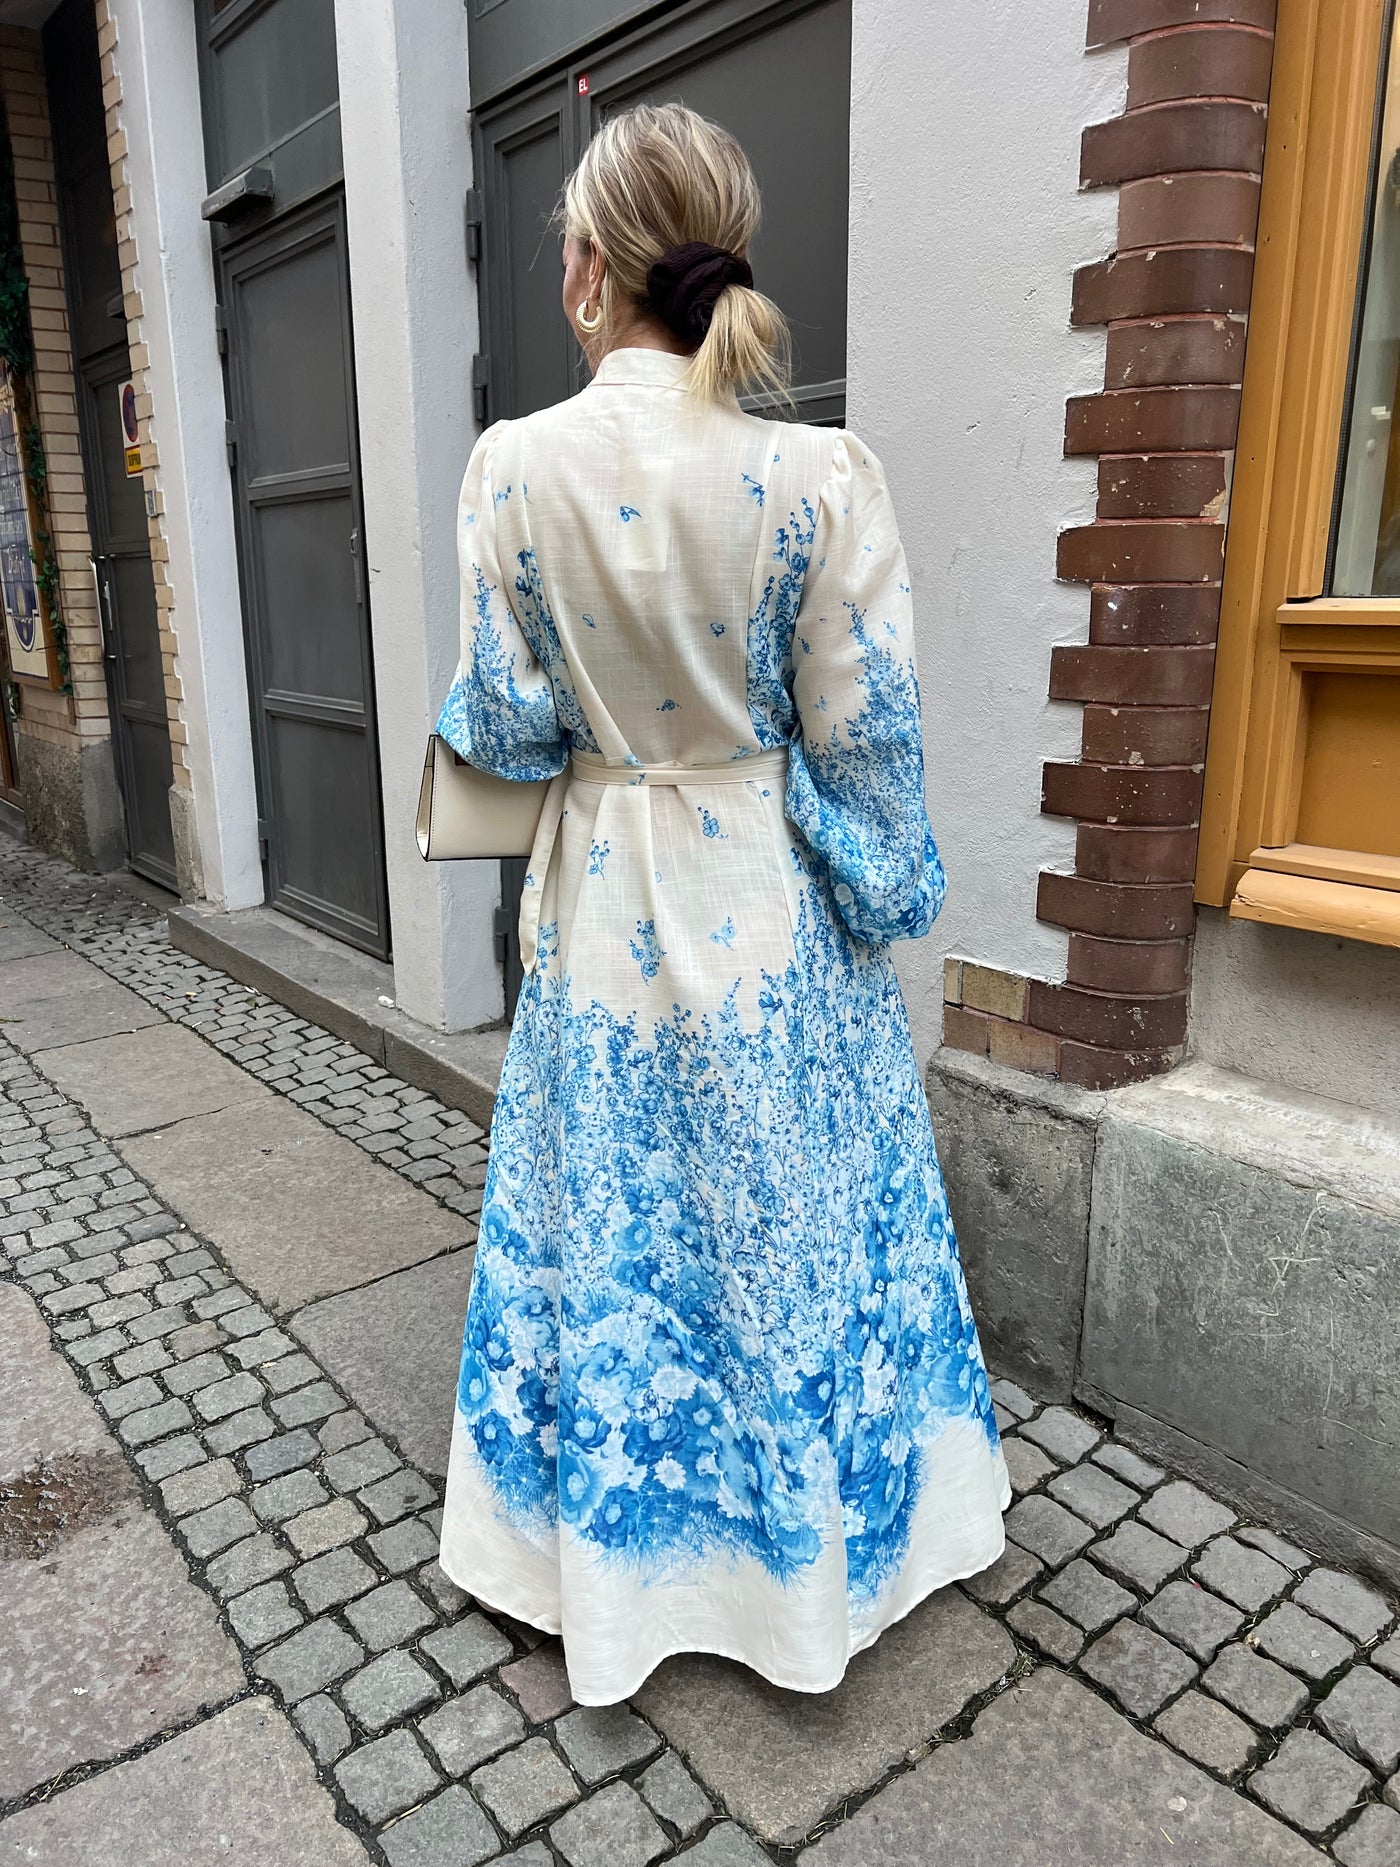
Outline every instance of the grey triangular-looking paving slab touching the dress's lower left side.
[(416, 1264), (312, 1303), (291, 1322), (360, 1411), (437, 1477), (448, 1469), (472, 1256)]

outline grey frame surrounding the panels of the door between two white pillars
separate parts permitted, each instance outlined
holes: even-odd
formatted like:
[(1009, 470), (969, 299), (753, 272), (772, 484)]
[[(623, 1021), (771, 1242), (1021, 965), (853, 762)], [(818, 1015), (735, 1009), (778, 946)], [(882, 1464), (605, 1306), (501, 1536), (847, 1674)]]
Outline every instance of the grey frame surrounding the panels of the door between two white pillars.
[[(330, 239), (340, 252), (342, 269), (342, 329), (340, 338), (345, 347), (345, 381), (349, 401), (347, 452), (349, 461), (343, 472), (325, 470), (282, 476), (287, 484), (278, 493), (263, 489), (254, 500), (239, 457), (237, 422), (246, 405), (246, 345), (237, 336), (237, 293), (235, 286), (259, 271), (280, 263), (297, 248), (310, 248)], [(230, 413), (230, 478), (233, 489), (235, 525), (233, 534), (239, 556), (239, 586), (243, 611), (243, 646), (248, 663), (248, 700), (252, 706), (254, 771), (258, 782), (258, 836), (263, 853), (263, 876), (269, 905), (295, 904), (291, 911), (297, 919), (321, 928), (334, 939), (371, 952), (381, 960), (390, 956), (388, 922), (388, 872), (385, 866), (385, 799), (379, 773), (379, 730), (373, 680), (373, 644), (370, 631), (370, 590), (364, 575), (364, 487), (360, 482), (360, 428), (355, 381), (355, 332), (351, 327), (351, 288), (349, 288), (349, 235), (345, 222), (343, 181), (323, 189), (310, 200), (301, 202), (286, 215), (259, 222), (239, 239), (224, 239), (215, 254), (218, 278), (218, 306), (228, 330), (224, 357), (224, 396)], [(295, 484), (291, 484), (295, 482)], [(256, 526), (248, 523), (252, 504), (295, 504), (299, 498), (312, 498), (325, 491), (349, 491), (351, 497), (351, 551), (355, 554), (355, 597), (360, 618), (360, 672), (364, 681), (364, 708), (336, 700), (306, 700), (295, 695), (278, 695), (263, 681), (261, 655), (261, 581), (256, 575), (261, 564), (256, 562)], [(274, 704), (269, 706), (267, 702)], [(373, 887), (377, 904), (377, 922), (368, 924), (357, 915), (330, 909), (325, 902), (312, 900), (302, 891), (289, 887), (280, 866), (276, 816), (269, 812), (273, 793), (273, 747), (267, 732), (267, 713), (276, 711), (286, 719), (304, 719), (323, 726), (336, 726), (347, 732), (362, 732), (366, 739), (366, 773), (370, 797), (373, 803), (370, 816), (370, 855), (373, 863)], [(334, 825), (325, 825), (327, 835), (334, 835)]]

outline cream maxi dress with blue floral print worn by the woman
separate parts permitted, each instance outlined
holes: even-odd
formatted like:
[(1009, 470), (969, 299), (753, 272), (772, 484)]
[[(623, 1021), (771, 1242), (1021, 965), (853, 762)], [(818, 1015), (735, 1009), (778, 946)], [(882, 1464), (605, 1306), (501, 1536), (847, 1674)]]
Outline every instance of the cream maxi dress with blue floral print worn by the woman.
[(683, 368), (614, 351), (482, 437), (439, 721), (554, 779), (442, 1566), (562, 1632), (584, 1705), (683, 1650), (823, 1692), (1010, 1499), (889, 958), (943, 870), (885, 480)]

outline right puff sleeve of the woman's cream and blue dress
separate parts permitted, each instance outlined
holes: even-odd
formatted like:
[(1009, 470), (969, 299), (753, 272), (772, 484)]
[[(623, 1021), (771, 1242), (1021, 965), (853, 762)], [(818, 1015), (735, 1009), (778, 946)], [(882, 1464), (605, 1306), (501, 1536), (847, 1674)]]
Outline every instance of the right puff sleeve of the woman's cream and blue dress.
[(885, 472), (840, 433), (793, 629), (786, 812), (853, 934), (928, 934), (943, 863), (924, 805), (913, 599)]

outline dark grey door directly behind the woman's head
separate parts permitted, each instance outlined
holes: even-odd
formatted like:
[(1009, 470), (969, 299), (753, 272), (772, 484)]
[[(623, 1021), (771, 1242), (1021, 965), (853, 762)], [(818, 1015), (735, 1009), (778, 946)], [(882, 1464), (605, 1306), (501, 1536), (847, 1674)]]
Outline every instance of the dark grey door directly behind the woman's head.
[[(478, 420), (528, 414), (582, 386), (582, 358), (560, 312), (558, 233), (549, 222), (597, 121), (646, 97), (693, 105), (749, 151), (763, 189), (754, 274), (793, 329), (797, 413), (806, 422), (842, 422), (851, 0), (693, 0), (659, 17), (655, 7), (612, 0), (584, 0), (567, 13), (553, 0), (470, 4), (483, 332), (474, 370)], [(625, 24), (644, 13), (642, 24)], [(584, 26), (620, 30), (584, 43)], [(534, 65), (519, 69), (508, 88), (508, 54), (525, 60), (541, 45), (554, 52), (553, 69), (541, 77)], [(497, 945), (508, 1008), (519, 986), (523, 877), (525, 863), (502, 864)]]

